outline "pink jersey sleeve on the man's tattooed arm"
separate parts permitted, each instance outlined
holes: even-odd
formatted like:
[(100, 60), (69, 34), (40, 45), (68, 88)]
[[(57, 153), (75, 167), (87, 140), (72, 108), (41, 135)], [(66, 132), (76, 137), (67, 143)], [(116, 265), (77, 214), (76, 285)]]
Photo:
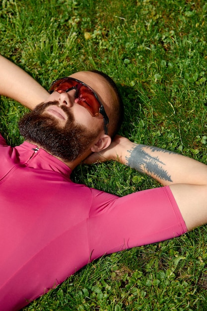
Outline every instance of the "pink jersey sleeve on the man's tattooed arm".
[(92, 190), (88, 218), (91, 260), (187, 232), (168, 186), (117, 197)]

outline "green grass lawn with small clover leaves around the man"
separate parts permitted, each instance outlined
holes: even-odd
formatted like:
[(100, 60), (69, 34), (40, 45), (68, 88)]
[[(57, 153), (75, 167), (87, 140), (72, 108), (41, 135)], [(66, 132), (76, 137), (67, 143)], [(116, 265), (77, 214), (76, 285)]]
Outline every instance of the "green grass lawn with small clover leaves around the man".
[[(207, 163), (206, 15), (206, 0), (1, 0), (0, 53), (46, 88), (107, 73), (125, 102), (122, 135)], [(25, 109), (1, 97), (0, 111), (0, 132), (19, 144)], [(78, 167), (73, 180), (120, 196), (157, 186), (113, 162)], [(206, 311), (206, 245), (203, 226), (103, 257), (24, 311)]]

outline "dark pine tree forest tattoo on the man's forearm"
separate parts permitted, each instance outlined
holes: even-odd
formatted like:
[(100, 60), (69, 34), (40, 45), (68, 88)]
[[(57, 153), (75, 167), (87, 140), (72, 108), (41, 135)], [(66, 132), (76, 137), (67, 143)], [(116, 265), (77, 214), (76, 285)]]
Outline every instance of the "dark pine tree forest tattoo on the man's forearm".
[(162, 162), (158, 156), (153, 156), (152, 154), (148, 153), (148, 149), (150, 153), (159, 151), (163, 153), (174, 154), (173, 152), (156, 147), (136, 145), (134, 149), (128, 150), (130, 156), (126, 157), (126, 160), (128, 161), (127, 165), (135, 168), (140, 173), (154, 175), (155, 177), (162, 180), (172, 182), (171, 176), (168, 174), (167, 170), (163, 168), (165, 163)]

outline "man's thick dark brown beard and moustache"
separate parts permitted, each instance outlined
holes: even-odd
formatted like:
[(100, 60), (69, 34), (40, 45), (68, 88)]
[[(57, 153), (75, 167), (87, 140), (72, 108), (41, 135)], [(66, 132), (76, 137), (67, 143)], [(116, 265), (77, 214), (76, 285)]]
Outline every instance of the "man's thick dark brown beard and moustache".
[(43, 114), (48, 106), (58, 104), (59, 102), (52, 101), (36, 106), (33, 111), (20, 119), (19, 131), (30, 143), (36, 144), (53, 156), (71, 162), (89, 149), (99, 131), (90, 132), (85, 126), (76, 124), (65, 106), (61, 106), (68, 116), (64, 127), (59, 125), (55, 117), (47, 113)]

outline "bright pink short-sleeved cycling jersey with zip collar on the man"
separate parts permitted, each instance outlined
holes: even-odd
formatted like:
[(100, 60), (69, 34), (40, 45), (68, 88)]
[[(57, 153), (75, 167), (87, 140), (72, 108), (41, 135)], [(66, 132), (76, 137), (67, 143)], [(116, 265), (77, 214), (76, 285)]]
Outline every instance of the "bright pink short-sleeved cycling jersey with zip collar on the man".
[(0, 136), (0, 310), (19, 310), (88, 262), (187, 231), (169, 187), (118, 197)]

